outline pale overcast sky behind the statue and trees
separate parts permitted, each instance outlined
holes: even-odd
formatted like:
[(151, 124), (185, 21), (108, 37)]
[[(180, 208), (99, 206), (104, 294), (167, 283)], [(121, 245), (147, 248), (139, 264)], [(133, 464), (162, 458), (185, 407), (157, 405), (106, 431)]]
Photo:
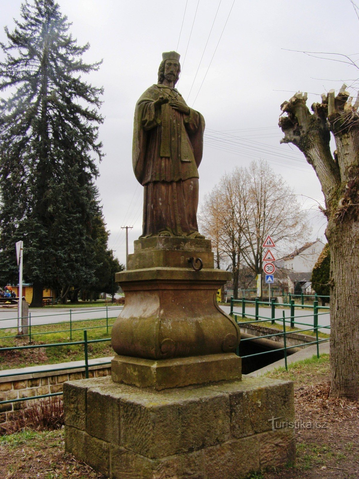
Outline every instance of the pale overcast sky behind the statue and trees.
[[(2, 26), (13, 28), (21, 3), (0, 0)], [(295, 194), (303, 195), (303, 208), (311, 209), (313, 235), (308, 239), (323, 239), (325, 221), (315, 207), (323, 198), (319, 182), (299, 150), (280, 146), (277, 123), (280, 103), (293, 92), (308, 91), (310, 106), (323, 91), (338, 90), (342, 80), (355, 80), (353, 67), (286, 50), (356, 54), (359, 22), (349, 0), (58, 3), (73, 23), (73, 36), (80, 44), (90, 42), (86, 60), (103, 58), (100, 71), (87, 80), (105, 89), (100, 137), (106, 157), (98, 186), (111, 231), (109, 247), (120, 262), (125, 262), (121, 227), (134, 227), (129, 233), (132, 252), (142, 225), (142, 186), (131, 160), (135, 103), (157, 82), (161, 54), (168, 50), (181, 54), (179, 91), (206, 121), (200, 197), (236, 165), (268, 160)], [(5, 41), (2, 29), (0, 40)]]

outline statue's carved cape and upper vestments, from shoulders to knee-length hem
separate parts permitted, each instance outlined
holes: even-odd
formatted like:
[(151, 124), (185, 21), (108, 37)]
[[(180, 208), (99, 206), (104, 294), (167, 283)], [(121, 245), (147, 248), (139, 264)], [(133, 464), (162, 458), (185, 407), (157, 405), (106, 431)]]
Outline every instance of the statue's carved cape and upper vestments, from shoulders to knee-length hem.
[[(189, 115), (181, 114), (169, 103), (155, 110), (154, 102), (160, 96), (168, 96), (169, 101), (175, 97), (179, 103), (186, 104), (176, 89), (165, 85), (152, 85), (141, 95), (134, 118), (132, 165), (135, 177), (141, 184), (198, 178), (197, 168), (203, 152), (203, 116), (191, 108)], [(150, 148), (157, 151), (149, 151)], [(171, 160), (169, 171), (158, 172), (160, 163), (154, 163), (155, 171), (149, 170), (148, 162), (154, 161), (154, 155), (158, 161)]]

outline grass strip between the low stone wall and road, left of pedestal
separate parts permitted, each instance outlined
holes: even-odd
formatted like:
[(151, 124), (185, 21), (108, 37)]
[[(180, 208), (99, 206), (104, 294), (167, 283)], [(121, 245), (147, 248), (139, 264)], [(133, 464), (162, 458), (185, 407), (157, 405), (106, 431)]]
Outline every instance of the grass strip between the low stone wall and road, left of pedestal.
[[(91, 319), (72, 321), (72, 341), (83, 341), (83, 330), (87, 330), (88, 340), (105, 339), (111, 337), (111, 327), (116, 318)], [(31, 344), (52, 344), (57, 342), (70, 342), (70, 323), (55, 323), (49, 325), (32, 326)], [(41, 334), (38, 334), (41, 333)], [(11, 337), (14, 329), (1, 330), (0, 347), (27, 346), (28, 336)], [(112, 356), (111, 342), (98, 342), (88, 345), (89, 359), (102, 356)], [(33, 348), (17, 351), (0, 351), (0, 370), (39, 364), (56, 364), (67, 361), (84, 360), (83, 344), (53, 346), (47, 348)]]

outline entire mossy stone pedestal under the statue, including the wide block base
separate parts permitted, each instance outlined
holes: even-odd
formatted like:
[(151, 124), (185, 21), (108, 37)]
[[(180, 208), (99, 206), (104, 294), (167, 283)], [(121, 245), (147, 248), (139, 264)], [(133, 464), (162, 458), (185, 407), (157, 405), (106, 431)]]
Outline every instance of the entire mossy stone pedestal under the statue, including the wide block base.
[(140, 239), (128, 267), (112, 377), (64, 386), (66, 450), (112, 479), (239, 479), (292, 461), (292, 383), (241, 380), (211, 242)]

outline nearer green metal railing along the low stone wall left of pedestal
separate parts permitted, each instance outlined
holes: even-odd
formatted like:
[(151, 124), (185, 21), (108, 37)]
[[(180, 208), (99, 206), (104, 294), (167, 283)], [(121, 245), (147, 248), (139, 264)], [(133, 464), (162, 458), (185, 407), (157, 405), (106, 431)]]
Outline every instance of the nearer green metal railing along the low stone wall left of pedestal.
[[(3, 351), (22, 351), (22, 350), (27, 350), (27, 349), (35, 349), (35, 348), (50, 348), (50, 347), (57, 347), (57, 346), (74, 346), (76, 344), (83, 344), (84, 346), (84, 365), (83, 366), (66, 366), (66, 369), (82, 369), (85, 371), (85, 377), (86, 379), (89, 378), (89, 344), (96, 343), (96, 342), (106, 342), (106, 341), (111, 341), (111, 338), (104, 338), (104, 339), (87, 339), (87, 330), (83, 331), (84, 339), (83, 341), (72, 341), (72, 342), (56, 342), (53, 344), (29, 344), (28, 346), (11, 346), (11, 347), (6, 347), (6, 348), (0, 348), (0, 354)], [(96, 366), (102, 366), (102, 365), (110, 365), (111, 361), (105, 361), (102, 363), (96, 363)], [(39, 373), (56, 373), (61, 371), (61, 369), (58, 368), (51, 368), (51, 369), (43, 369), (42, 371), (39, 371)], [(29, 371), (24, 371), (22, 373), (16, 373), (16, 376), (22, 376), (25, 374), (29, 374)], [(0, 377), (10, 377), (14, 376), (14, 373), (9, 373), (9, 374), (1, 374)], [(1, 404), (9, 404), (11, 402), (20, 402), (20, 401), (28, 401), (30, 399), (42, 399), (42, 398), (50, 398), (52, 396), (60, 396), (62, 395), (62, 392), (56, 392), (56, 393), (49, 393), (49, 394), (41, 394), (38, 396), (31, 396), (28, 398), (18, 398), (18, 399), (7, 399), (4, 401), (0, 401)]]

